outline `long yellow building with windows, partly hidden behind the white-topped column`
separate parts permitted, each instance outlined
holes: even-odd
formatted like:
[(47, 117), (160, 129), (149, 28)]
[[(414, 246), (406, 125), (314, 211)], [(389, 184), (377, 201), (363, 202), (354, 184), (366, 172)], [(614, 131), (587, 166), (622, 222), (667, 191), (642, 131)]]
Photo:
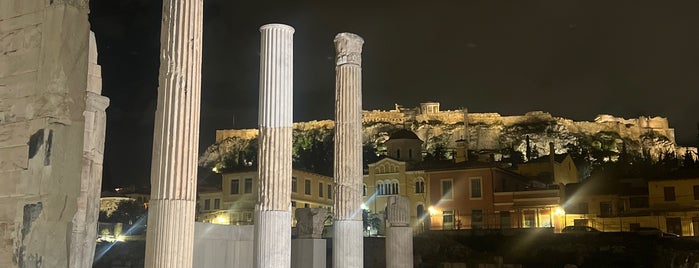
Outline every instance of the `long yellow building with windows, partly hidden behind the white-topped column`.
[[(316, 173), (294, 169), (291, 180), (291, 225), (295, 225), (296, 208), (333, 207), (333, 179)], [(247, 225), (253, 223), (257, 202), (257, 171), (221, 174), (221, 189), (199, 191), (197, 220), (217, 224)]]

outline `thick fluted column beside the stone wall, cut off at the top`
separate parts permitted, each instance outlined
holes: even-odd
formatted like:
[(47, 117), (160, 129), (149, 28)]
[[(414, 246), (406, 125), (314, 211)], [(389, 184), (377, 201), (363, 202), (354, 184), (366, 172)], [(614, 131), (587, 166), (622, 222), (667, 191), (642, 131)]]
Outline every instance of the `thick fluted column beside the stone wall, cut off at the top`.
[(202, 0), (164, 0), (145, 267), (192, 267)]

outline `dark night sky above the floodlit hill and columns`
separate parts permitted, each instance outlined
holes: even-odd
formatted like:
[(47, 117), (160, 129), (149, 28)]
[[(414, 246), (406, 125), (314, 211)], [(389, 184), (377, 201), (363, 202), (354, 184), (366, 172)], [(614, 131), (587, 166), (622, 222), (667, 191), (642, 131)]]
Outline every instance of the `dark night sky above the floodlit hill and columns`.
[[(259, 27), (267, 23), (296, 29), (294, 121), (333, 118), (332, 41), (347, 31), (365, 40), (364, 109), (438, 101), (585, 121), (663, 116), (680, 145), (696, 146), (697, 1), (329, 2), (204, 1), (200, 152), (216, 129), (257, 127)], [(90, 6), (111, 99), (103, 185), (147, 184), (161, 3)]]

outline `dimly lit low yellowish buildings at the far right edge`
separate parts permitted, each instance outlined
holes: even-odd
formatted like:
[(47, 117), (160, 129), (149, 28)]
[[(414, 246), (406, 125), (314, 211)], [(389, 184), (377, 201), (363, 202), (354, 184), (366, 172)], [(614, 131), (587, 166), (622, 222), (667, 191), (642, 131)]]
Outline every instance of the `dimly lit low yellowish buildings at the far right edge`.
[(566, 225), (584, 225), (606, 232), (655, 227), (681, 236), (699, 235), (699, 178), (656, 179), (568, 185)]

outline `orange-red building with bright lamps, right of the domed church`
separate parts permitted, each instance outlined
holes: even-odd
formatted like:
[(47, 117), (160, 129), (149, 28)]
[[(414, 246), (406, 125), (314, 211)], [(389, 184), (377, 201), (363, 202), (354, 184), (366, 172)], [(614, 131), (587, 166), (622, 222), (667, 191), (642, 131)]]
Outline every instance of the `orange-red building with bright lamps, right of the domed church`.
[(427, 171), (427, 177), (430, 229), (563, 227), (560, 190), (537, 188), (519, 174), (497, 167), (463, 167)]

